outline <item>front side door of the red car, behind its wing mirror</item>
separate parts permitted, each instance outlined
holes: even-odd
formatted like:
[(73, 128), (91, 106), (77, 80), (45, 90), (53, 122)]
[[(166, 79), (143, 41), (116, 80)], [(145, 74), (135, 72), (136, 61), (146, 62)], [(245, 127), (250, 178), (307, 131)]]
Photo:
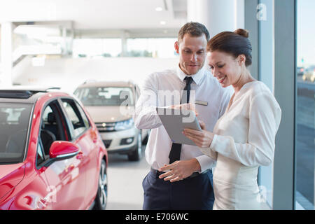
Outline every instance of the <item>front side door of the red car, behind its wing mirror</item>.
[[(49, 160), (49, 148), (53, 141), (72, 141), (70, 130), (71, 127), (58, 100), (45, 106), (39, 136), (45, 160)], [(53, 209), (85, 209), (84, 163), (84, 158), (77, 155), (70, 159), (53, 162), (45, 169), (48, 183), (54, 189)], [(45, 162), (43, 164), (45, 165)]]

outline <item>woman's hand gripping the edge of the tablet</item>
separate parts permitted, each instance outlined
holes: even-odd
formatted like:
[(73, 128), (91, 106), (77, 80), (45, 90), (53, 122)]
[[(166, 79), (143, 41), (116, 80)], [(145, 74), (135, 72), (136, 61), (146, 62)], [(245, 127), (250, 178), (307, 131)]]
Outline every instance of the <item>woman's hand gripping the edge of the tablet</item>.
[(199, 146), (200, 148), (209, 148), (214, 139), (214, 133), (204, 130), (204, 123), (201, 122), (200, 126), (202, 127), (202, 131), (184, 129), (183, 134), (188, 137), (188, 139), (192, 140), (196, 146)]

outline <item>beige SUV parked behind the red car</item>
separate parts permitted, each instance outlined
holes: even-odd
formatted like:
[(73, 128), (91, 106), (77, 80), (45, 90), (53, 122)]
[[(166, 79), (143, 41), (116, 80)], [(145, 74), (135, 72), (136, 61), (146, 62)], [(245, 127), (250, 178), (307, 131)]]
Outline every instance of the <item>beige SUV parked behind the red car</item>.
[(127, 154), (133, 161), (141, 158), (142, 143), (147, 141), (149, 130), (134, 126), (132, 111), (140, 95), (136, 84), (83, 83), (74, 94), (90, 113), (109, 153)]

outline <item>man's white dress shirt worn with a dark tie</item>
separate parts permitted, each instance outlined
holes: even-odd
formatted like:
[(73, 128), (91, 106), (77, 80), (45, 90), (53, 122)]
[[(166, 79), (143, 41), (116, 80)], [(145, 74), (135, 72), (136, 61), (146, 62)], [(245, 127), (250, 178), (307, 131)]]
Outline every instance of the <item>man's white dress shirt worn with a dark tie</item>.
[[(155, 109), (157, 106), (180, 104), (186, 76), (179, 66), (177, 69), (151, 73), (141, 88), (133, 118), (137, 128), (152, 129), (146, 145), (146, 160), (153, 169), (169, 164), (169, 152), (172, 148), (172, 141)], [(190, 102), (207, 102), (207, 106), (196, 104), (199, 113), (197, 118), (205, 123), (207, 130), (212, 131), (228, 106), (232, 89), (221, 87), (218, 80), (206, 69), (201, 69), (191, 77), (193, 83), (190, 85)], [(214, 165), (214, 160), (204, 155), (197, 146), (182, 145), (180, 159), (192, 158), (200, 163), (201, 172)]]

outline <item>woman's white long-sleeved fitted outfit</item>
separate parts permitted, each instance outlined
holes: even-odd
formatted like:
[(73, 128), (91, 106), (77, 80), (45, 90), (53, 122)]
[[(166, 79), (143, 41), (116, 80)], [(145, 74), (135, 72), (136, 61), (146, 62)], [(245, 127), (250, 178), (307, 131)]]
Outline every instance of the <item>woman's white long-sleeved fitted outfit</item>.
[(274, 160), (281, 109), (268, 87), (246, 83), (214, 127), (214, 139), (201, 151), (217, 160), (214, 209), (261, 209), (258, 167)]

